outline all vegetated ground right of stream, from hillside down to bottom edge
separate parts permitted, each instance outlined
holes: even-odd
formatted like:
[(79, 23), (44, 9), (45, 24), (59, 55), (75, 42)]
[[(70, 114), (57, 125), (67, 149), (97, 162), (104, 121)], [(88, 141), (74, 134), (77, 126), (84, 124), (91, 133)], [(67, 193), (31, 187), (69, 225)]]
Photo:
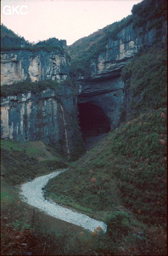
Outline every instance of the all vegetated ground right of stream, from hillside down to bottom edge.
[(125, 253), (165, 255), (165, 145), (165, 108), (140, 114), (110, 132), (69, 172), (50, 180), (48, 196), (104, 220), (108, 224), (104, 252), (112, 249), (109, 239), (116, 254), (123, 247)]

